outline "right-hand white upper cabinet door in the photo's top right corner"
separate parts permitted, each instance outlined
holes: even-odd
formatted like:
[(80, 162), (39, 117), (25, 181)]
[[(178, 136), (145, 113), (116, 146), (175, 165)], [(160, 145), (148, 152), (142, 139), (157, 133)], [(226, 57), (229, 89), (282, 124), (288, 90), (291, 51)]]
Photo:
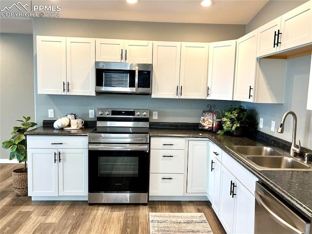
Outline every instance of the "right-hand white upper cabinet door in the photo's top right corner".
[(281, 17), (280, 50), (312, 42), (312, 1), (308, 1)]

